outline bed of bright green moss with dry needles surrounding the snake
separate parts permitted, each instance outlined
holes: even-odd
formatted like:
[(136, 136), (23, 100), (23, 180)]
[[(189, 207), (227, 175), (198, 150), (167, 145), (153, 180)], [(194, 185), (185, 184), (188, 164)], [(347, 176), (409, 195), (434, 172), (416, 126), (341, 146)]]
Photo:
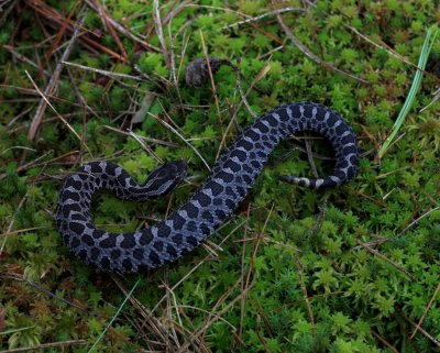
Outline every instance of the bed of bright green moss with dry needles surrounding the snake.
[[(0, 13), (0, 351), (440, 352), (433, 1), (322, 0), (283, 11), (315, 56), (293, 44), (270, 1), (161, 1), (161, 19), (154, 1), (99, 1), (107, 21), (82, 2), (32, 3), (8, 2)], [(72, 38), (55, 10), (84, 19), (87, 31), (50, 92)], [(185, 66), (205, 53), (240, 58), (249, 108), (230, 66), (202, 88), (186, 85)], [(425, 64), (431, 75), (413, 79)], [(32, 140), (42, 93), (53, 108)], [(142, 180), (158, 161), (188, 161), (172, 198), (94, 200), (101, 228), (148, 227), (204, 181), (253, 121), (249, 110), (299, 100), (351, 123), (364, 151), (355, 180), (326, 192), (278, 181), (312, 174), (295, 148), (302, 140), (292, 140), (206, 246), (169, 266), (119, 277), (63, 244), (53, 212), (62, 179), (80, 163), (111, 159)], [(312, 148), (327, 153), (319, 141)], [(319, 175), (331, 172), (315, 162)]]

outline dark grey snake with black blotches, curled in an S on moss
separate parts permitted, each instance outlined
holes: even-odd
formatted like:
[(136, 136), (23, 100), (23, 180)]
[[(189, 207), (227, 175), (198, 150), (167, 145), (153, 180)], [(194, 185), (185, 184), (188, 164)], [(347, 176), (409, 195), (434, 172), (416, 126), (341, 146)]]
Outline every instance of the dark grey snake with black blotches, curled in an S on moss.
[(155, 169), (143, 184), (110, 162), (91, 162), (65, 178), (55, 219), (66, 246), (80, 260), (114, 273), (150, 271), (172, 263), (200, 245), (234, 212), (252, 188), (275, 146), (301, 131), (326, 137), (334, 150), (334, 170), (324, 178), (280, 176), (311, 189), (352, 180), (360, 147), (352, 128), (336, 111), (314, 102), (290, 102), (256, 118), (220, 154), (209, 177), (183, 206), (147, 229), (108, 232), (92, 221), (95, 191), (109, 189), (124, 200), (145, 201), (170, 192), (185, 179), (183, 161)]

